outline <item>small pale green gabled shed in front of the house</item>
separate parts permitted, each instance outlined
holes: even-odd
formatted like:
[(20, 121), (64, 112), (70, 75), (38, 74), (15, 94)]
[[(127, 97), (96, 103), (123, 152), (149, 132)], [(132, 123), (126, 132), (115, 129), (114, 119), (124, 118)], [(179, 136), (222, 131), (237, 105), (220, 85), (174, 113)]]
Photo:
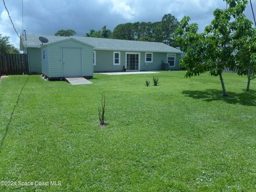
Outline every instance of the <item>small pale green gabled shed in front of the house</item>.
[(93, 77), (93, 46), (72, 37), (40, 47), (43, 75)]

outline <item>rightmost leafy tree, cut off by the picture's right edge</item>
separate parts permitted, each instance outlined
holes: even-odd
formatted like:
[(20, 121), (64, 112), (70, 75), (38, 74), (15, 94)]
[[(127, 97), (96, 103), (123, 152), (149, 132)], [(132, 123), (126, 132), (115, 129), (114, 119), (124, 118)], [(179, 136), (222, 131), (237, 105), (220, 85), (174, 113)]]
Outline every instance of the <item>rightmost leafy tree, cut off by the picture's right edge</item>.
[(245, 7), (240, 9), (234, 5), (230, 7), (230, 11), (235, 15), (235, 20), (231, 22), (234, 31), (235, 67), (238, 69), (239, 76), (247, 76), (246, 91), (249, 91), (251, 80), (256, 77), (256, 29), (252, 27), (252, 21), (243, 14)]

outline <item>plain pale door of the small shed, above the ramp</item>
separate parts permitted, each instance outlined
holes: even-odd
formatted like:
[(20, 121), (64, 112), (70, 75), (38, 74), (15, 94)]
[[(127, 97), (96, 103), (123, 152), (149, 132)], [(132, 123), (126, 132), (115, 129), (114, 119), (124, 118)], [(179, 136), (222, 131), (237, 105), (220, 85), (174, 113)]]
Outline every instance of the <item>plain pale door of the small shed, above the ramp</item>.
[(64, 77), (82, 76), (81, 49), (63, 48), (62, 63)]

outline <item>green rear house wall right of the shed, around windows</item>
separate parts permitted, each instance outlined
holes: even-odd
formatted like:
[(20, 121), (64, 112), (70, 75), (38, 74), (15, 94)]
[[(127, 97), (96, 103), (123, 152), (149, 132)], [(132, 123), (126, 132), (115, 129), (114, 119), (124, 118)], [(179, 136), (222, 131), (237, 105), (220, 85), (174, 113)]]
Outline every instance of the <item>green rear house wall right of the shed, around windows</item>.
[[(122, 71), (125, 66), (126, 51), (121, 51), (121, 63), (120, 65), (113, 65), (114, 51), (95, 50), (96, 52), (96, 65), (93, 66), (93, 70), (97, 71)], [(130, 51), (129, 51), (130, 52)], [(137, 52), (136, 52), (137, 53)], [(163, 62), (167, 62), (167, 53), (153, 53), (153, 62), (145, 62), (145, 52), (140, 53), (140, 70), (162, 70)], [(171, 70), (179, 70), (180, 53), (175, 54), (175, 66), (170, 67)]]

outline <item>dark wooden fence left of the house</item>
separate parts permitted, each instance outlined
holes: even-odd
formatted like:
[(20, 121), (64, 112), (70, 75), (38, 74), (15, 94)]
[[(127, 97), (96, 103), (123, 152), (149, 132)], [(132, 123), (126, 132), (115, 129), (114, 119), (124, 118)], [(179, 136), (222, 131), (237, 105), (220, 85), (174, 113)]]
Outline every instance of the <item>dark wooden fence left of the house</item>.
[(27, 54), (0, 53), (0, 76), (28, 74)]

